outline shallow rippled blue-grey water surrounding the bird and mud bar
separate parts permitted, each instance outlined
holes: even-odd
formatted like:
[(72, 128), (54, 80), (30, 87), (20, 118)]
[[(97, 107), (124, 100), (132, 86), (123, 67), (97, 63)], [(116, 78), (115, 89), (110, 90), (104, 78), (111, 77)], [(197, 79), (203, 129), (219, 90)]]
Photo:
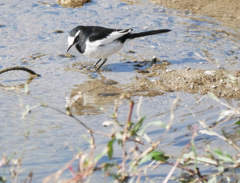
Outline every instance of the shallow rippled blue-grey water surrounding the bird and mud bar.
[[(14, 156), (17, 158), (24, 154), (20, 182), (30, 171), (34, 172), (34, 182), (42, 182), (46, 176), (64, 166), (79, 149), (86, 150), (89, 147), (82, 137), (87, 133), (82, 126), (66, 115), (40, 107), (40, 104), (47, 103), (65, 111), (65, 97), (70, 97), (81, 84), (100, 80), (100, 77), (118, 82), (121, 88), (122, 85), (133, 82), (136, 76), (141, 77), (131, 64), (132, 61), (151, 60), (153, 56), (170, 62), (169, 68), (240, 68), (239, 29), (222, 26), (220, 22), (208, 17), (193, 16), (148, 2), (128, 5), (117, 0), (98, 0), (82, 8), (72, 9), (63, 8), (55, 1), (2, 0), (0, 12), (0, 68), (21, 65), (41, 74), (40, 78), (35, 78), (28, 85), (29, 95), (0, 90), (0, 155), (17, 153)], [(79, 24), (132, 27), (134, 32), (168, 28), (172, 32), (129, 42), (119, 54), (109, 57), (105, 66), (108, 70), (101, 72), (100, 76), (84, 69), (96, 60), (81, 56), (75, 49), (70, 51), (76, 55), (74, 58), (60, 56), (66, 52), (69, 31)], [(64, 32), (56, 33), (56, 30)], [(134, 53), (128, 53), (129, 51)], [(127, 63), (129, 61), (131, 63)], [(22, 72), (9, 72), (0, 78), (1, 84), (12, 86), (24, 84), (27, 76)], [(102, 123), (111, 120), (115, 98), (108, 96), (105, 99), (102, 95), (84, 93), (83, 105), (88, 107), (81, 111), (77, 108), (74, 110), (77, 117), (92, 129), (110, 132), (111, 129), (103, 127)], [(198, 94), (173, 92), (154, 97), (144, 96), (140, 115), (147, 117), (145, 123), (155, 120), (168, 123), (171, 104), (178, 96), (181, 102), (175, 110), (174, 133), (168, 133), (160, 148), (176, 156), (190, 140), (186, 135), (189, 132), (188, 125), (196, 124), (197, 119), (206, 120), (210, 125), (226, 109), (208, 96), (202, 98)], [(132, 99), (136, 104), (139, 102), (138, 95)], [(239, 107), (238, 100), (222, 101)], [(23, 116), (28, 106), (33, 109), (30, 114)], [(196, 118), (191, 111), (196, 114)], [(119, 109), (119, 121), (125, 121), (127, 112), (128, 103), (124, 102)], [(137, 117), (135, 106), (133, 121)], [(228, 125), (235, 121), (236, 119), (230, 120)], [(216, 130), (220, 131), (220, 127)], [(28, 131), (30, 136), (25, 140), (24, 134)], [(159, 138), (162, 131), (154, 127), (148, 128), (153, 139)], [(200, 142), (205, 141), (212, 141), (216, 146), (223, 144), (219, 139), (199, 135), (199, 146)], [(97, 138), (96, 144), (105, 146), (106, 142), (107, 139), (102, 137)], [(101, 149), (96, 150), (99, 151)], [(119, 157), (116, 154), (116, 158)], [(8, 170), (9, 167), (0, 167), (0, 175), (10, 180)], [(168, 172), (167, 169), (165, 171), (162, 172), (163, 177)], [(69, 172), (64, 175), (71, 177)]]

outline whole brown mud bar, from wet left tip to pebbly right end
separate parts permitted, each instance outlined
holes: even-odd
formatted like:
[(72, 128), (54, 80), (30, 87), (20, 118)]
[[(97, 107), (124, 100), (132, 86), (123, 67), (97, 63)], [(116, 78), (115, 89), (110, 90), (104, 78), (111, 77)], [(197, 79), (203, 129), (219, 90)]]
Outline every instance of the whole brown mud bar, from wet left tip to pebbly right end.
[[(240, 99), (240, 71), (174, 69), (167, 64), (155, 64), (142, 72), (128, 85), (100, 77), (76, 86), (71, 98), (80, 95), (74, 102), (75, 113), (98, 114), (94, 106), (113, 103), (120, 95), (154, 97), (165, 92), (183, 91), (205, 95), (209, 92), (219, 98)], [(101, 75), (101, 73), (99, 73)]]

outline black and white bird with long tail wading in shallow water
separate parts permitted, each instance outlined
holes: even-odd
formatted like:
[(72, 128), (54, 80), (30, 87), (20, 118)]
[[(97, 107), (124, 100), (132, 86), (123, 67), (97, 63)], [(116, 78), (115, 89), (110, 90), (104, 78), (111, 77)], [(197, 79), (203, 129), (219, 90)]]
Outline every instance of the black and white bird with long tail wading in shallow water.
[(154, 34), (166, 33), (171, 30), (160, 29), (140, 33), (131, 33), (133, 29), (109, 29), (99, 26), (77, 26), (71, 30), (68, 36), (68, 49), (75, 45), (76, 49), (89, 58), (99, 59), (93, 67), (101, 60), (99, 70), (107, 61), (107, 58), (123, 48), (126, 41), (150, 36)]

